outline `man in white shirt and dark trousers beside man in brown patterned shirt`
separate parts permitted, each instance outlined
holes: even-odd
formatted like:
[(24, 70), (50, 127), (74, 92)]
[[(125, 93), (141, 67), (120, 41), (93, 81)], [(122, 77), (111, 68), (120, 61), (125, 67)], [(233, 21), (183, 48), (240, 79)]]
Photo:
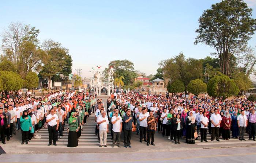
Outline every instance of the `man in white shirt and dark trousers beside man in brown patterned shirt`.
[(146, 112), (146, 109), (142, 109), (142, 113), (139, 115), (140, 121), (140, 143), (142, 143), (142, 138), (147, 142), (147, 117), (149, 113)]

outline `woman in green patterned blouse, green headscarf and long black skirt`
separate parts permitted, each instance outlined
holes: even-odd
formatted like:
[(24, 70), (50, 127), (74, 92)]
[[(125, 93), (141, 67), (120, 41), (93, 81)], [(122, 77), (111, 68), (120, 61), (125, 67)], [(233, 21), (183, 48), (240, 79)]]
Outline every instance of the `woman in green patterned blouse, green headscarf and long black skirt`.
[(68, 147), (78, 146), (78, 120), (75, 117), (75, 113), (71, 113), (71, 117), (68, 119), (69, 132), (68, 132)]

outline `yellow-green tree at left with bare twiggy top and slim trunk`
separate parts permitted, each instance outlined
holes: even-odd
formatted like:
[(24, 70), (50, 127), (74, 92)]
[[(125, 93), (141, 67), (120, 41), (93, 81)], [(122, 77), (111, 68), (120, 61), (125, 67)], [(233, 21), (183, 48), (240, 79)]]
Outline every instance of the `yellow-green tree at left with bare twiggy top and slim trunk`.
[(46, 40), (43, 43), (43, 49), (46, 52), (42, 60), (44, 66), (40, 74), (48, 79), (48, 89), (50, 89), (50, 80), (53, 75), (63, 72), (64, 67), (67, 65), (68, 49), (61, 47), (59, 42), (53, 40)]

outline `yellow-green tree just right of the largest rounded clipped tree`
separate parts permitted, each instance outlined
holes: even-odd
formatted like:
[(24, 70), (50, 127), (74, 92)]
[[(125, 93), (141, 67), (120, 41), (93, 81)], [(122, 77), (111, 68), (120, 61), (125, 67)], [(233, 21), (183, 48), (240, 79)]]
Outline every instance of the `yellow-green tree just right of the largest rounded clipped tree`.
[(241, 93), (243, 91), (249, 90), (250, 88), (253, 88), (252, 81), (244, 72), (237, 72), (232, 77)]

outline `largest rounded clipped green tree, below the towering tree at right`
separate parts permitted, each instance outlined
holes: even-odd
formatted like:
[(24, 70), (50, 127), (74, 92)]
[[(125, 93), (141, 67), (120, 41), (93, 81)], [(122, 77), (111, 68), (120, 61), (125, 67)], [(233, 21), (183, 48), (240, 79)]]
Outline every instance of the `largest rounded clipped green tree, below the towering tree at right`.
[(239, 89), (227, 75), (216, 75), (207, 83), (207, 93), (212, 97), (226, 98), (238, 95)]

